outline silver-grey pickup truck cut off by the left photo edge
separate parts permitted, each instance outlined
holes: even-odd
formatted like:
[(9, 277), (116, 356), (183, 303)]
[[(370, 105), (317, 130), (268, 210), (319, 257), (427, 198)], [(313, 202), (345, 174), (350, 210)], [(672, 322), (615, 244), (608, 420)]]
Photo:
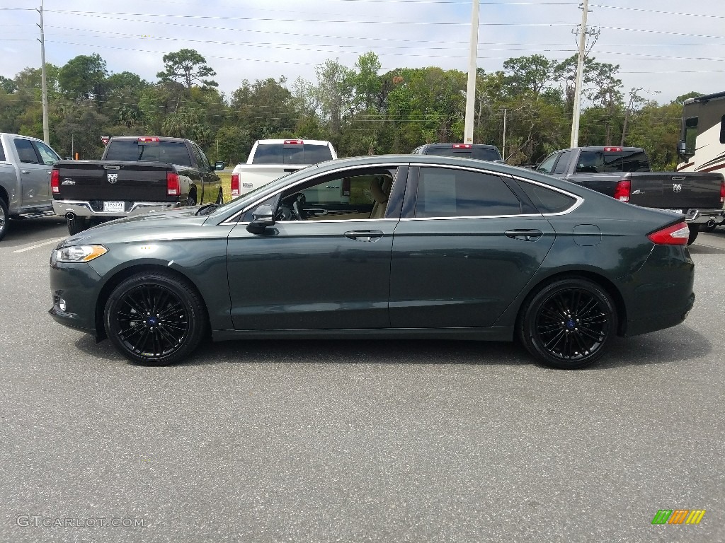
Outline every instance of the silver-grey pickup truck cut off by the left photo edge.
[(51, 214), (50, 176), (58, 153), (37, 138), (0, 133), (0, 240), (9, 217)]

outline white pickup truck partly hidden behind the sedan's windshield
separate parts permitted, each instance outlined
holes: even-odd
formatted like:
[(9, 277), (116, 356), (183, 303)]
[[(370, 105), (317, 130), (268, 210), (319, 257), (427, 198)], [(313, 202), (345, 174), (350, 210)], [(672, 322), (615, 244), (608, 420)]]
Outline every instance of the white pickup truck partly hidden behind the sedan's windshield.
[(247, 194), (310, 164), (337, 158), (332, 143), (323, 140), (257, 140), (246, 164), (231, 174), (231, 195)]

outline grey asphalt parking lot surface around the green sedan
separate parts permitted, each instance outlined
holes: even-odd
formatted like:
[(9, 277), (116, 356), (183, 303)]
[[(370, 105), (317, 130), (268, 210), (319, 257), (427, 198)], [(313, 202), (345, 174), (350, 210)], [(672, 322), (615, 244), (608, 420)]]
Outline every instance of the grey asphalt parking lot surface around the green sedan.
[(134, 366), (47, 314), (63, 219), (11, 226), (1, 541), (725, 540), (723, 229), (691, 247), (684, 324), (556, 371), (517, 344), (379, 340)]

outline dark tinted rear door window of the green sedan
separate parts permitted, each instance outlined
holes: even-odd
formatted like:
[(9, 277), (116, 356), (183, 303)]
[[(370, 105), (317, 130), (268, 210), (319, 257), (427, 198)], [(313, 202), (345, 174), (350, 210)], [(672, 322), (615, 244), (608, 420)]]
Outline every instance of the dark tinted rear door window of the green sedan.
[(497, 175), (421, 167), (416, 217), (518, 215), (524, 206)]

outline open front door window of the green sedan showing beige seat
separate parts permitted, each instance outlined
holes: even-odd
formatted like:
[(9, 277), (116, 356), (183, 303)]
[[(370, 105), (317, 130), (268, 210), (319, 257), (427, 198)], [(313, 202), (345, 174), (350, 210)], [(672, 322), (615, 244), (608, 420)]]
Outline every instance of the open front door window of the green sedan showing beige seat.
[(379, 219), (385, 216), (395, 169), (326, 175), (282, 193), (278, 220)]

